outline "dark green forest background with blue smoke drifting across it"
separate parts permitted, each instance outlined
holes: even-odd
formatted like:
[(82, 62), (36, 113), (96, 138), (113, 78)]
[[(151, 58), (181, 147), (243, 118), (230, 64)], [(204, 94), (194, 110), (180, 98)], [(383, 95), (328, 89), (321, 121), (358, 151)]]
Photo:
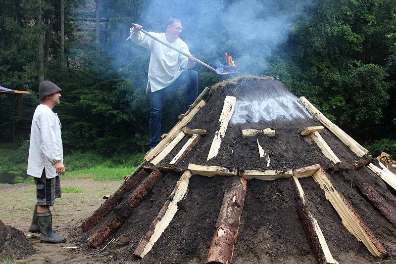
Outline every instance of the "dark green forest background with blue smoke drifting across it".
[[(26, 169), (42, 80), (63, 89), (54, 111), (69, 164), (136, 164), (148, 150), (150, 53), (125, 40), (131, 23), (164, 32), (169, 17), (181, 19), (181, 38), (197, 58), (221, 67), (227, 51), (241, 75), (281, 80), (373, 155), (396, 155), (395, 0), (0, 0), (0, 6), (0, 85), (31, 91), (22, 109), (17, 95), (0, 93), (0, 172), (16, 164)], [(206, 68), (195, 70), (198, 92), (221, 81)], [(181, 98), (178, 92), (164, 108), (163, 132), (185, 112)], [(81, 157), (89, 161), (76, 164)]]

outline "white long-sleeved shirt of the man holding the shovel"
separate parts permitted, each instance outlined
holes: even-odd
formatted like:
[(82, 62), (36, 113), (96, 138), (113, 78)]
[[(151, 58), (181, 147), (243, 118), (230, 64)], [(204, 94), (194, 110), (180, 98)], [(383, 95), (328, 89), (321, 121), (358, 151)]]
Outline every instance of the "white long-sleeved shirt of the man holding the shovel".
[[(165, 33), (149, 32), (161, 41), (178, 48), (188, 54), (190, 50), (187, 44), (180, 38), (175, 42), (169, 43)], [(161, 44), (141, 32), (131, 30), (131, 40), (133, 43), (148, 48), (151, 51), (150, 63), (148, 64), (148, 87), (151, 91), (157, 91), (172, 84), (181, 74), (181, 68), (186, 70), (195, 66), (195, 62), (189, 62), (188, 57)]]

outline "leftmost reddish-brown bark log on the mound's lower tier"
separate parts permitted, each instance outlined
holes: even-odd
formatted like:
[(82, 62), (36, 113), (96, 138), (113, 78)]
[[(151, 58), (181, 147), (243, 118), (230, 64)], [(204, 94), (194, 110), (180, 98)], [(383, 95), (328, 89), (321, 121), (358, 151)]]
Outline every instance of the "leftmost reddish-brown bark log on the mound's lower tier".
[(81, 229), (83, 229), (83, 232), (87, 232), (100, 220), (107, 216), (108, 213), (110, 213), (110, 211), (122, 201), (123, 195), (133, 190), (138, 182), (140, 182), (146, 175), (147, 173), (144, 170), (141, 170), (138, 174), (136, 174), (136, 176), (132, 177), (125, 184), (123, 184), (122, 187), (118, 189), (112, 196), (106, 199), (106, 201), (101, 204), (99, 208), (80, 225)]

